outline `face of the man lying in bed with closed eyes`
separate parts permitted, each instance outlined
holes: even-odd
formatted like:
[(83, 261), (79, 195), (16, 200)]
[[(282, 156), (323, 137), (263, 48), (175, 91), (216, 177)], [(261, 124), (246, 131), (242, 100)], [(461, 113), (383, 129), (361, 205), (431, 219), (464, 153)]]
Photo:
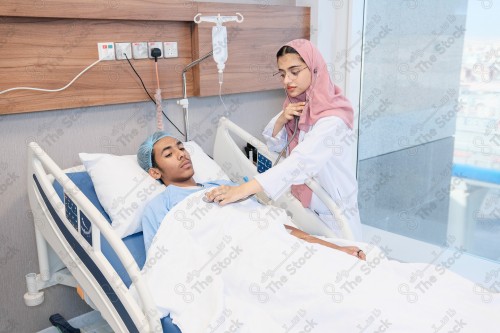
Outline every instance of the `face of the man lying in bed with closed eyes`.
[(172, 137), (165, 137), (153, 146), (156, 167), (149, 172), (156, 179), (161, 178), (165, 185), (186, 186), (194, 175), (191, 157), (182, 142)]

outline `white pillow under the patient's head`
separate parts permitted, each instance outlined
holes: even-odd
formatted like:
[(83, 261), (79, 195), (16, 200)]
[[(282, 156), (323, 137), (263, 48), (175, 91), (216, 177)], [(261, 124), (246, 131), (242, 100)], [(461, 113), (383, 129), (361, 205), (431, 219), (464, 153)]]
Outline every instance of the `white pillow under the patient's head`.
[[(195, 142), (186, 142), (184, 147), (191, 155), (195, 181), (229, 179)], [(144, 207), (163, 192), (165, 186), (142, 170), (136, 155), (80, 153), (79, 156), (118, 235), (124, 238), (142, 231)]]

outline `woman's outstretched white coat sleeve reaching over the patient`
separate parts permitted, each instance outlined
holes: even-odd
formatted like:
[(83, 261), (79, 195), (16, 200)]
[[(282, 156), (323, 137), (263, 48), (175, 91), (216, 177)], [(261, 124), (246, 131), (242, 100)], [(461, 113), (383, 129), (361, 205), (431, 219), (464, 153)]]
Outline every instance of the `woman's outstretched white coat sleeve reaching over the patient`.
[[(304, 184), (316, 176), (333, 156), (339, 155), (346, 129), (338, 117), (321, 118), (286, 159), (255, 179), (271, 199), (277, 199), (291, 185)], [(338, 158), (343, 157), (340, 154)]]

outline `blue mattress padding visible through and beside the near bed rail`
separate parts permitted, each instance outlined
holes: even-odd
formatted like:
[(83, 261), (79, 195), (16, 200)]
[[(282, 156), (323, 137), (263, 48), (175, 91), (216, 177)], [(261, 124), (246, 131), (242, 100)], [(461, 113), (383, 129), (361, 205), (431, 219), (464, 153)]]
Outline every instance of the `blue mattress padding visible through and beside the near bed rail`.
[[(101, 206), (101, 203), (97, 198), (97, 194), (94, 189), (94, 184), (92, 184), (92, 179), (90, 178), (89, 174), (86, 171), (81, 171), (81, 172), (67, 173), (66, 175), (69, 177), (69, 179), (71, 179), (73, 183), (75, 183), (76, 186), (78, 186), (78, 188), (82, 191), (82, 193), (90, 200), (90, 202), (92, 202), (92, 204), (94, 204), (94, 206), (99, 210), (99, 212), (101, 212), (101, 214), (106, 218), (106, 220), (108, 220), (108, 222), (111, 223), (111, 219), (109, 218), (108, 214)], [(54, 182), (54, 189), (59, 195), (61, 201), (64, 202), (63, 189), (62, 186), (57, 181)], [(129, 249), (132, 256), (134, 257), (139, 268), (142, 269), (146, 261), (146, 250), (144, 249), (144, 239), (142, 236), (142, 232), (123, 238), (123, 242)], [(132, 281), (126, 272), (125, 267), (123, 267), (122, 263), (118, 259), (118, 256), (116, 255), (115, 251), (113, 251), (108, 241), (102, 236), (101, 236), (101, 251), (104, 254), (104, 256), (108, 259), (111, 266), (113, 266), (118, 275), (121, 277), (123, 283), (125, 283), (127, 287), (130, 287)], [(170, 316), (163, 317), (161, 319), (161, 324), (164, 333), (181, 333), (179, 328), (174, 323), (172, 323), (172, 319), (170, 318)]]

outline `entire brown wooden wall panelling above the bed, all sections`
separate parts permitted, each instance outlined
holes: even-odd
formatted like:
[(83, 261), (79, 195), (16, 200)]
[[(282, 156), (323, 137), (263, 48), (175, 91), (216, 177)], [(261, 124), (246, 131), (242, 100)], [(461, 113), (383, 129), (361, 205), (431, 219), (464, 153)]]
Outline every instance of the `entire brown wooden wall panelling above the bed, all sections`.
[[(156, 41), (177, 45), (168, 57), (158, 58), (158, 77), (163, 99), (180, 98), (182, 69), (212, 50), (213, 24), (194, 23), (198, 13), (244, 16), (241, 23), (225, 23), (229, 57), (223, 94), (280, 88), (272, 77), (276, 51), (291, 39), (309, 38), (308, 7), (187, 0), (5, 0), (0, 2), (0, 91), (60, 89), (99, 59), (98, 43)], [(130, 61), (153, 96), (154, 60)], [(188, 96), (219, 94), (217, 66), (211, 58), (189, 70), (186, 78)], [(148, 100), (128, 61), (106, 60), (59, 92), (0, 94), (0, 115)]]

